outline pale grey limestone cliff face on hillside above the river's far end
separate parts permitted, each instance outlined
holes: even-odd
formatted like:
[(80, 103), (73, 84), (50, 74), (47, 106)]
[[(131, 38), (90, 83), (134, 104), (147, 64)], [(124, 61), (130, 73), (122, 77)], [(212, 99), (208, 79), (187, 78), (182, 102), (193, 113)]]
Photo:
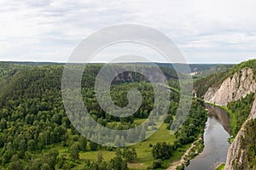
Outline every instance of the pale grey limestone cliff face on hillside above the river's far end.
[(227, 78), (219, 88), (209, 88), (204, 99), (217, 105), (227, 105), (256, 91), (253, 70), (244, 68)]

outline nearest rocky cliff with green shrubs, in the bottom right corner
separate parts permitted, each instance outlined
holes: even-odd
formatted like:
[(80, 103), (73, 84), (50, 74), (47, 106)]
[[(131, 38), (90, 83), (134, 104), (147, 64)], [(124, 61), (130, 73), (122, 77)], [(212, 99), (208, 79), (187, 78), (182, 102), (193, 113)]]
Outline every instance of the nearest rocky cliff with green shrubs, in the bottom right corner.
[[(246, 122), (241, 126), (235, 141), (228, 150), (225, 170), (249, 170), (256, 169), (253, 162), (256, 161), (256, 99)], [(254, 153), (253, 153), (254, 152)]]

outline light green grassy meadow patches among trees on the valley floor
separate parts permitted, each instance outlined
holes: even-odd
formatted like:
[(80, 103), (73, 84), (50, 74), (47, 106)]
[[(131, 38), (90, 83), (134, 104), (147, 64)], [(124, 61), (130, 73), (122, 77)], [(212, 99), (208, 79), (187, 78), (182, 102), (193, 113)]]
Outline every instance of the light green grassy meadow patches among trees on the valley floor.
[[(136, 120), (135, 123), (140, 124), (143, 122), (143, 119)], [(150, 136), (148, 139), (143, 141), (142, 143), (135, 144), (131, 146), (131, 148), (135, 148), (137, 150), (137, 161), (135, 163), (129, 163), (128, 167), (131, 169), (147, 169), (147, 167), (152, 166), (152, 162), (154, 161), (154, 158), (151, 154), (152, 148), (149, 146), (149, 144), (156, 144), (159, 141), (166, 141), (166, 143), (173, 144), (175, 140), (175, 136), (173, 133), (170, 133), (169, 130), (166, 128), (167, 124), (163, 123), (152, 136)], [(172, 161), (177, 161), (183, 156), (183, 153), (189, 148), (190, 144), (183, 145), (181, 149), (175, 150), (173, 152), (173, 156), (166, 161), (163, 161), (162, 167), (169, 167), (169, 165), (172, 163)], [(68, 149), (61, 147), (61, 144), (55, 144), (55, 148), (59, 150), (60, 155), (64, 154), (68, 158)], [(81, 169), (83, 167), (83, 162), (85, 160), (90, 161), (97, 161), (97, 156), (99, 151), (102, 151), (103, 160), (104, 161), (110, 161), (113, 156), (115, 155), (115, 151), (108, 151), (104, 149), (91, 151), (88, 148), (88, 151), (80, 152), (80, 160), (77, 162), (76, 167), (73, 169)]]

